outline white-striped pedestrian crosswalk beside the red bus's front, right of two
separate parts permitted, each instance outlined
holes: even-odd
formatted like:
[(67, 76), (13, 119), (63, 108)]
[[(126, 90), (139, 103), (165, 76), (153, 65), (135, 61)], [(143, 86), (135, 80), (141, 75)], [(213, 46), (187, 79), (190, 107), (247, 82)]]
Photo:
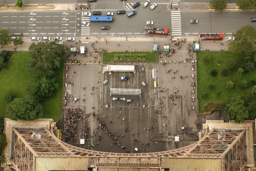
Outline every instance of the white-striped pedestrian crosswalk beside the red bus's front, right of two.
[(172, 35), (181, 35), (181, 14), (180, 11), (171, 12)]

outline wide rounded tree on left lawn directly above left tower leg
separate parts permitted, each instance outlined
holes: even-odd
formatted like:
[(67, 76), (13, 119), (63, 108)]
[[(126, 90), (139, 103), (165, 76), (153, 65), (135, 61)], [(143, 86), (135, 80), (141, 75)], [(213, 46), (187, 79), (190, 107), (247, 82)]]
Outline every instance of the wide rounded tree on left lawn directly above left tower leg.
[(42, 118), (43, 107), (34, 97), (26, 95), (24, 98), (15, 98), (6, 107), (6, 116), (12, 120), (34, 120)]

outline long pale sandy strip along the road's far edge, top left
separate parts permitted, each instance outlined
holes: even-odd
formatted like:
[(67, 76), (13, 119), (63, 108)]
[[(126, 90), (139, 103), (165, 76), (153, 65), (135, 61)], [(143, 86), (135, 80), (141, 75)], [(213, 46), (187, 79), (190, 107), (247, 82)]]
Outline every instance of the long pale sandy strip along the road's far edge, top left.
[(54, 5), (43, 5), (43, 4), (39, 4), (39, 5), (23, 5), (21, 8), (14, 6), (14, 5), (2, 5), (0, 6), (0, 10), (1, 9), (17, 9), (17, 10), (23, 10), (23, 9), (54, 9), (55, 6)]

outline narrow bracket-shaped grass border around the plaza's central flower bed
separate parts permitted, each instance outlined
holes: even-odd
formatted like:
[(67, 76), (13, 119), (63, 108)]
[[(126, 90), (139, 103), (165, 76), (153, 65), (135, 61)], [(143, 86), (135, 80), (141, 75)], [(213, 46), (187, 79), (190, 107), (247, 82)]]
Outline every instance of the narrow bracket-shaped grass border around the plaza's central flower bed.
[(146, 62), (157, 62), (157, 52), (103, 52), (103, 62), (113, 62), (115, 54), (145, 54)]

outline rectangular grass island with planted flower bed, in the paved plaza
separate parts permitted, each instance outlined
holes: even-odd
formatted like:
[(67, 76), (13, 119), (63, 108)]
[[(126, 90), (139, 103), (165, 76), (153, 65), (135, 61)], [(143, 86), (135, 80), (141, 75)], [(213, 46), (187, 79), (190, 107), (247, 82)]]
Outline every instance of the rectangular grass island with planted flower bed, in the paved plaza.
[(103, 52), (103, 63), (157, 62), (157, 52)]

